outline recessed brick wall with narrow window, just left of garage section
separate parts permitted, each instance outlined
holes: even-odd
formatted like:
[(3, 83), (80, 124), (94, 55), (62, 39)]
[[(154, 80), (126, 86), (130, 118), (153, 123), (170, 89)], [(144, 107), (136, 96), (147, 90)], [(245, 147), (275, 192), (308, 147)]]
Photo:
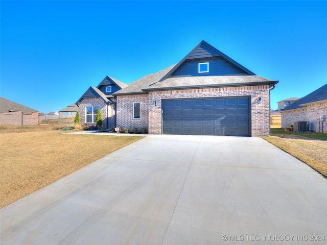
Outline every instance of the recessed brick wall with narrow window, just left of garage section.
[[(141, 115), (139, 119), (133, 119), (133, 102), (141, 102)], [(148, 94), (117, 96), (117, 127), (122, 129), (147, 128), (149, 126), (149, 98)], [(161, 126), (160, 126), (161, 127)]]

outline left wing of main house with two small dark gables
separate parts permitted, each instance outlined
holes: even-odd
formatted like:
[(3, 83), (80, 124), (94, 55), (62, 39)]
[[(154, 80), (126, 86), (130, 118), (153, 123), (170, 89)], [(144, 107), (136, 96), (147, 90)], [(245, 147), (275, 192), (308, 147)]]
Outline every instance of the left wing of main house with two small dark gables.
[(111, 77), (105, 77), (97, 87), (89, 87), (76, 102), (82, 126), (95, 126), (97, 110), (100, 108), (103, 126), (116, 126), (116, 99), (112, 93), (128, 85)]

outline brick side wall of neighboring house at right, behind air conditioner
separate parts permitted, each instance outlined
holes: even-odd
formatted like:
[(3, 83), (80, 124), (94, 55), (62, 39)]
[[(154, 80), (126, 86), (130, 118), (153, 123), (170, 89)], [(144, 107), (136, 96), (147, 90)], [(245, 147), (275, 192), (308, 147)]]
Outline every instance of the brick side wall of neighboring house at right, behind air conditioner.
[[(309, 121), (309, 130), (321, 132), (320, 115), (327, 116), (327, 102), (318, 102), (306, 108), (282, 111), (282, 128), (293, 125), (294, 121)], [(323, 122), (323, 133), (327, 133), (327, 122)]]

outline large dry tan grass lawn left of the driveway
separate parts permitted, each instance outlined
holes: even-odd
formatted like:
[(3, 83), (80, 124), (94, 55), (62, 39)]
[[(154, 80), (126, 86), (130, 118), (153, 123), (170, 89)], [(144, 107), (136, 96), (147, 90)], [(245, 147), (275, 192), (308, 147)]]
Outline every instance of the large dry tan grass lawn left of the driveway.
[(0, 207), (142, 138), (65, 134), (72, 131), (49, 126), (0, 132)]

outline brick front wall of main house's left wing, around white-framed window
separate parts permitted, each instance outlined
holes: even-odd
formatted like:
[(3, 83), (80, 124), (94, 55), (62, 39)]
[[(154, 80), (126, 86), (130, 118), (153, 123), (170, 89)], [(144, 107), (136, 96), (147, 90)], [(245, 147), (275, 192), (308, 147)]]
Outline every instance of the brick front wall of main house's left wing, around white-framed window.
[(87, 106), (99, 106), (102, 115), (102, 125), (105, 129), (115, 126), (116, 115), (114, 111), (114, 105), (107, 105), (101, 98), (87, 98), (83, 99), (79, 106), (78, 111), (80, 113), (81, 125), (82, 126), (96, 126), (96, 122), (86, 122), (86, 107)]

